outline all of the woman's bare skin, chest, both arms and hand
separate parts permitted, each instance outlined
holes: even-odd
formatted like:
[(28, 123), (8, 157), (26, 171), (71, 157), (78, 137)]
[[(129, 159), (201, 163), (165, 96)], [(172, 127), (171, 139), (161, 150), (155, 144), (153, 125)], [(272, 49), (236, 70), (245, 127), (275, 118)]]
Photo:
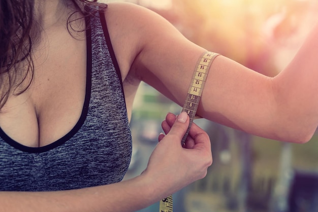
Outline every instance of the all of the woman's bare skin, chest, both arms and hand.
[[(65, 25), (70, 8), (63, 1), (39, 0), (36, 4), (43, 31), (32, 55), (35, 78), (25, 93), (11, 95), (0, 113), (1, 128), (28, 147), (51, 144), (74, 127), (82, 111), (86, 80), (84, 34), (78, 35), (83, 39), (74, 39)], [(207, 50), (187, 41), (165, 19), (139, 6), (109, 4), (105, 16), (129, 116), (141, 81), (182, 104), (197, 59)], [(314, 92), (318, 86), (317, 33), (315, 28), (291, 64), (274, 78), (218, 56), (211, 66), (198, 114), (263, 137), (307, 142), (318, 120), (318, 96)], [(185, 123), (174, 122), (172, 116), (163, 123), (167, 135), (160, 136), (146, 171), (137, 178), (71, 191), (0, 192), (0, 201), (4, 202), (0, 210), (134, 211), (203, 178), (212, 162), (209, 138), (194, 125), (188, 149), (182, 148), (180, 140), (188, 118)], [(170, 166), (161, 166), (165, 162), (162, 154), (170, 155)], [(165, 178), (157, 177), (161, 171), (158, 167), (168, 168), (170, 173), (170, 184), (164, 187), (161, 182)]]

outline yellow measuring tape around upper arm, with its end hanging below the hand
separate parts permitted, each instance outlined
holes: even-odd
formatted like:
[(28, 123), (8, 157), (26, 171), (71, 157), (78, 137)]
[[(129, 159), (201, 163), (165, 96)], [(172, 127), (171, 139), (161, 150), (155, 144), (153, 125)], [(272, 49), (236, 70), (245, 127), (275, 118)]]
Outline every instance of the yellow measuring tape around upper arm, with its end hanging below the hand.
[[(200, 57), (200, 59), (197, 62), (189, 86), (189, 90), (182, 108), (182, 112), (185, 111), (190, 118), (189, 127), (182, 138), (182, 145), (184, 144), (186, 137), (190, 131), (190, 127), (193, 123), (193, 120), (196, 117), (198, 105), (200, 102), (206, 78), (209, 73), (210, 66), (215, 57), (218, 55), (219, 54), (214, 52), (206, 52)], [(173, 212), (172, 195), (160, 201), (159, 212)]]

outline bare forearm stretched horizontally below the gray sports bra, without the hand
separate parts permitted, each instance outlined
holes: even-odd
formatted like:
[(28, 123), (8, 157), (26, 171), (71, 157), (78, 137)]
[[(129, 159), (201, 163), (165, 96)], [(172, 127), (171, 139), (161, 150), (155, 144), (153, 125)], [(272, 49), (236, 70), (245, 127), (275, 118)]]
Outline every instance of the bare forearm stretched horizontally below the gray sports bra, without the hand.
[(138, 176), (129, 181), (78, 190), (0, 192), (0, 211), (136, 211), (159, 200), (158, 194), (151, 191), (154, 186), (149, 179)]

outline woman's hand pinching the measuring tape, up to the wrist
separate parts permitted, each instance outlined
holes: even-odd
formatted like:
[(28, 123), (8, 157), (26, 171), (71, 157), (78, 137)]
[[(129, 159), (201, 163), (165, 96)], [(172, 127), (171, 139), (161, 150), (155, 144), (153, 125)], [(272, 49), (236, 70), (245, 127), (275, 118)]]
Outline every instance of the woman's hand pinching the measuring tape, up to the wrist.
[(181, 140), (189, 125), (189, 117), (182, 112), (178, 117), (168, 114), (162, 126), (166, 135), (150, 156), (143, 174), (155, 179), (155, 192), (168, 196), (206, 176), (212, 164), (211, 144), (207, 133), (193, 124), (185, 148)]

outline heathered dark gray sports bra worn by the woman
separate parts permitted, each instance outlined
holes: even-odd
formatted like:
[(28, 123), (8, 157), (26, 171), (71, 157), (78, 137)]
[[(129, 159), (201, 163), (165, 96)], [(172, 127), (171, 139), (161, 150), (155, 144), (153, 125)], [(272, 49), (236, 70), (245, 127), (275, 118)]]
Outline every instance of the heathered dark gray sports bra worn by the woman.
[(89, 21), (86, 97), (78, 123), (41, 148), (22, 146), (0, 128), (0, 190), (99, 186), (121, 181), (128, 169), (132, 137), (118, 64), (104, 15), (97, 12), (86, 18), (87, 25)]

